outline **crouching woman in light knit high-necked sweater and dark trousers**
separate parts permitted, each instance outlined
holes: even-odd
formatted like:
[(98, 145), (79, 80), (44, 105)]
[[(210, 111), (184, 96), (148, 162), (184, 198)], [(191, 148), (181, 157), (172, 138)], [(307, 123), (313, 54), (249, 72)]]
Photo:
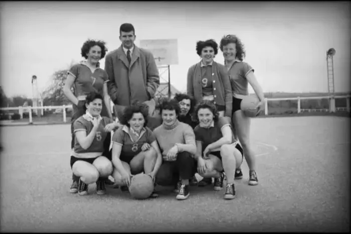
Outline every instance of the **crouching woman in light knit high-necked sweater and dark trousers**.
[(177, 100), (166, 100), (160, 105), (162, 125), (153, 132), (156, 136), (163, 162), (156, 175), (159, 185), (176, 184), (177, 199), (184, 200), (190, 195), (189, 179), (195, 174), (195, 134), (189, 125), (177, 118), (180, 107)]

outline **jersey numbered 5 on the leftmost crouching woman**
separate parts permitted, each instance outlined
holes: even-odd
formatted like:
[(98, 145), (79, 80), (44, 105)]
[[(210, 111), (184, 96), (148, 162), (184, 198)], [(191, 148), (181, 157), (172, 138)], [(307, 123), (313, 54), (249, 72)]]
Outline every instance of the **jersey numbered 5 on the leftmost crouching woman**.
[[(104, 141), (107, 136), (105, 132), (105, 126), (112, 123), (111, 120), (105, 116), (102, 117), (99, 127), (96, 131), (96, 136), (88, 149), (83, 149), (79, 144), (77, 137), (74, 137), (74, 152), (77, 154), (81, 153), (92, 153), (92, 152), (103, 152), (104, 151)], [(87, 136), (93, 129), (93, 123), (88, 119), (87, 114), (80, 116), (73, 124), (74, 133), (78, 131), (85, 131)]]

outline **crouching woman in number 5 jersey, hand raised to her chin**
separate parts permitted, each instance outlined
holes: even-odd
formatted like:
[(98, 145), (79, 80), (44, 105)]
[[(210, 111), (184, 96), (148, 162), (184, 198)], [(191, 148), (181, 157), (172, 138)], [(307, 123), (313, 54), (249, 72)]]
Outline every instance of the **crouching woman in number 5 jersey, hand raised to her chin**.
[(84, 105), (86, 112), (73, 124), (75, 138), (71, 168), (73, 174), (79, 177), (79, 195), (88, 194), (88, 185), (92, 183), (96, 183), (98, 195), (105, 194), (105, 181), (112, 173), (111, 161), (102, 154), (108, 130), (117, 128), (119, 124), (100, 116), (102, 102), (101, 94), (88, 94)]

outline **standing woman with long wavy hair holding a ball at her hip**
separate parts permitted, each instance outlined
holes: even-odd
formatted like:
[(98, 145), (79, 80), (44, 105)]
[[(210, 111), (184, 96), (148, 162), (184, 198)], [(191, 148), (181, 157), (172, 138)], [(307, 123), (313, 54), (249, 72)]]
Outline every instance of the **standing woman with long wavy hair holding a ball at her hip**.
[[(240, 108), (241, 100), (249, 95), (248, 85), (254, 89), (260, 102), (256, 106), (259, 110), (264, 101), (264, 93), (261, 85), (257, 82), (254, 69), (244, 62), (245, 49), (241, 40), (235, 35), (227, 35), (221, 39), (220, 49), (223, 51), (225, 66), (229, 73), (233, 91), (233, 114), (232, 122), (238, 134), (238, 139), (243, 146), (246, 162), (249, 166), (249, 185), (257, 185), (256, 158), (250, 145), (250, 122), (251, 118), (246, 116)], [(241, 169), (235, 172), (235, 178), (241, 179)]]

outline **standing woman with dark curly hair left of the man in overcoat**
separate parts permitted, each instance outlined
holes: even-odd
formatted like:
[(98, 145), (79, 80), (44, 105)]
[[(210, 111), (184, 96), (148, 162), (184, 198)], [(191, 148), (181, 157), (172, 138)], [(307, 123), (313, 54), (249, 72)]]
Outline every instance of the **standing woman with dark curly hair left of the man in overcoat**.
[[(102, 95), (103, 103), (101, 115), (112, 119), (110, 99), (107, 94), (107, 73), (99, 67), (99, 61), (105, 57), (107, 49), (105, 42), (87, 40), (81, 48), (81, 55), (86, 59), (73, 65), (68, 73), (63, 92), (73, 103), (73, 114), (71, 118), (71, 148), (74, 147), (73, 123), (79, 116), (85, 113), (84, 105), (86, 95), (90, 92), (97, 92)], [(73, 92), (72, 92), (73, 88)], [(105, 148), (108, 148), (111, 136), (108, 135)], [(78, 191), (78, 178), (72, 176), (71, 193)]]

